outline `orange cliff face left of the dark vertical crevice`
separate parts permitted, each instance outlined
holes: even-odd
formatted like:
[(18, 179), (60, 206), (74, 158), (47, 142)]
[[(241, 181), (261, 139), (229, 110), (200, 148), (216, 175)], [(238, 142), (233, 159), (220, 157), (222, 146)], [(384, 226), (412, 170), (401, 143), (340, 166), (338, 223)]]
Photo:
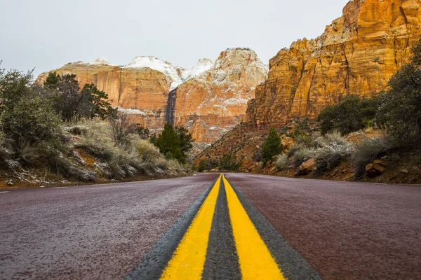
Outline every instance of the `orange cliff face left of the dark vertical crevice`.
[[(75, 73), (79, 85), (95, 84), (108, 94), (112, 106), (126, 109), (133, 121), (144, 127), (160, 129), (166, 122), (168, 88), (171, 80), (150, 68), (125, 68), (102, 63), (69, 63), (57, 73)], [(37, 81), (45, 80), (42, 73)]]

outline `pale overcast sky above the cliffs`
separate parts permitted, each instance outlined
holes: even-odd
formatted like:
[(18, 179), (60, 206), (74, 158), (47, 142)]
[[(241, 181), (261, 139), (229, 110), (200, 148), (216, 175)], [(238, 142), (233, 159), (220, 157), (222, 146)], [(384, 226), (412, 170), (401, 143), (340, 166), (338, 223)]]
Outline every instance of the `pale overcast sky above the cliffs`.
[(153, 55), (190, 68), (229, 47), (267, 64), (298, 38), (319, 36), (348, 0), (0, 0), (0, 68), (35, 74), (107, 57)]

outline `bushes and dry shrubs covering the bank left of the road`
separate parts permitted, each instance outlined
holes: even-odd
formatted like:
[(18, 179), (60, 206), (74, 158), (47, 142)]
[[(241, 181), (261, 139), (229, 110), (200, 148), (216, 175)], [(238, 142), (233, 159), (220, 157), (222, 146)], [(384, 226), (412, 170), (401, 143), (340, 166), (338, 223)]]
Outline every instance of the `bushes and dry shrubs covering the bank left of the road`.
[(72, 74), (52, 72), (38, 85), (30, 71), (1, 69), (0, 100), (0, 173), (8, 185), (176, 176), (192, 168), (187, 130), (167, 124), (154, 145), (149, 130)]

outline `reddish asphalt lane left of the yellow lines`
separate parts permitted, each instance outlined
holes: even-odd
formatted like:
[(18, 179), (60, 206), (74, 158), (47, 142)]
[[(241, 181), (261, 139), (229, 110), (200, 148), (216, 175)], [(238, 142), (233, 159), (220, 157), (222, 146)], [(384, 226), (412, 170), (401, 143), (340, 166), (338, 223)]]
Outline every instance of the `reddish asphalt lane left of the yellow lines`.
[(0, 193), (0, 279), (123, 279), (217, 177)]

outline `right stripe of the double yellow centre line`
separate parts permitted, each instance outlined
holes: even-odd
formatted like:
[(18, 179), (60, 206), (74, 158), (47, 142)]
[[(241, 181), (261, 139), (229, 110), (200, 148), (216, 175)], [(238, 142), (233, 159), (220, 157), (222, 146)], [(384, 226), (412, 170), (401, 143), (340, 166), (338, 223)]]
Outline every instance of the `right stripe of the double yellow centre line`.
[(222, 179), (243, 279), (285, 279), (232, 186), (225, 176), (222, 176)]

